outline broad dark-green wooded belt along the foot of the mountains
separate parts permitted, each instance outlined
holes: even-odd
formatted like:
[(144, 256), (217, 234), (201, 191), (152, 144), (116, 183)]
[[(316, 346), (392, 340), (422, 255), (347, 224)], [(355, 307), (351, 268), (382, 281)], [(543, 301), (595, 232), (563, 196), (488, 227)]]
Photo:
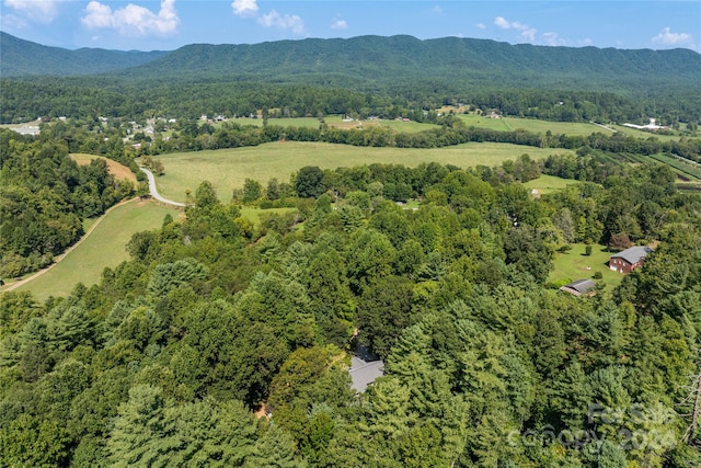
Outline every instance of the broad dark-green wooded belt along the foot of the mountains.
[(504, 115), (553, 122), (624, 122), (698, 125), (701, 102), (697, 90), (641, 93), (573, 89), (495, 88), (486, 81), (460, 85), (449, 80), (393, 80), (370, 90), (356, 85), (273, 84), (249, 81), (153, 78), (34, 78), (1, 80), (0, 123), (22, 123), (39, 117), (120, 117), (146, 115), (197, 118), (202, 114), (227, 117), (277, 110), (280, 116), (304, 117), (347, 114), (358, 118), (398, 116), (424, 119), (424, 112), (467, 103), (472, 109), (498, 110)]

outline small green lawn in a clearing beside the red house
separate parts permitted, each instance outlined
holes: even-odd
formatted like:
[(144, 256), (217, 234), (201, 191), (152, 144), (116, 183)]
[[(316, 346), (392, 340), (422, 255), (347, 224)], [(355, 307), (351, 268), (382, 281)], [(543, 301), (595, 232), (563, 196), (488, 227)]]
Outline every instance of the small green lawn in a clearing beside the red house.
[(591, 255), (588, 256), (584, 254), (586, 249), (584, 243), (573, 243), (570, 252), (556, 253), (554, 267), (548, 276), (548, 282), (590, 279), (596, 272), (601, 272), (604, 277), (598, 281), (606, 285), (607, 290), (610, 292), (618, 286), (623, 281), (623, 274), (609, 270), (607, 262), (611, 253), (604, 246), (591, 247)]

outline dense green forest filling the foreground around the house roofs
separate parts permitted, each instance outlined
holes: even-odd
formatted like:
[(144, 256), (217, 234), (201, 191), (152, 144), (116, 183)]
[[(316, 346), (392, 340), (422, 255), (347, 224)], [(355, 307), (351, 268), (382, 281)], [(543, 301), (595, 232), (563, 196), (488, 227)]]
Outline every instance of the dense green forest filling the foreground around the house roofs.
[[(600, 164), (547, 165), (576, 158)], [(535, 198), (527, 157), (308, 167), (309, 198), (258, 228), (205, 182), (100, 284), (3, 294), (0, 464), (696, 466), (701, 197), (665, 167), (604, 172)], [(614, 235), (660, 243), (613, 290), (547, 284)], [(386, 363), (361, 395), (355, 341)]]

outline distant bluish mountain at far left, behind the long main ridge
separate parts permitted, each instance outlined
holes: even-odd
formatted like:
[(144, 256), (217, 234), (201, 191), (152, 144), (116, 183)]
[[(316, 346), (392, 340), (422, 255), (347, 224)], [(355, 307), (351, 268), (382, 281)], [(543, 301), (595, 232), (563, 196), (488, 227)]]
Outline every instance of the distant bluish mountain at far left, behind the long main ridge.
[(43, 46), (0, 31), (0, 76), (2, 78), (97, 75), (136, 67), (165, 54), (168, 53), (101, 48), (68, 50)]

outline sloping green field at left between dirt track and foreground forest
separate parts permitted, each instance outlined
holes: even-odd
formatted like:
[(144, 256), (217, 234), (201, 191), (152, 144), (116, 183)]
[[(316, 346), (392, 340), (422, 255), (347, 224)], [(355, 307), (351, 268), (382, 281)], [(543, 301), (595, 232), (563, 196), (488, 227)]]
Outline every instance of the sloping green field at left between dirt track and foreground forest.
[(49, 296), (67, 296), (77, 283), (85, 286), (96, 284), (106, 266), (115, 267), (128, 260), (126, 244), (131, 235), (159, 228), (166, 214), (177, 219), (181, 212), (152, 201), (134, 201), (117, 206), (64, 260), (16, 290), (30, 290), (44, 301)]

